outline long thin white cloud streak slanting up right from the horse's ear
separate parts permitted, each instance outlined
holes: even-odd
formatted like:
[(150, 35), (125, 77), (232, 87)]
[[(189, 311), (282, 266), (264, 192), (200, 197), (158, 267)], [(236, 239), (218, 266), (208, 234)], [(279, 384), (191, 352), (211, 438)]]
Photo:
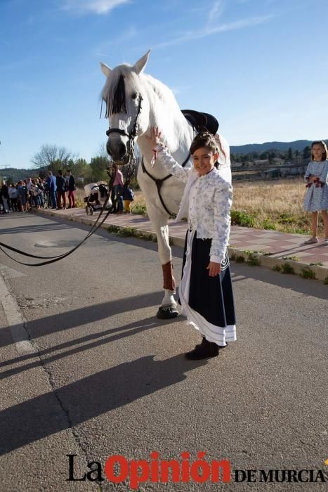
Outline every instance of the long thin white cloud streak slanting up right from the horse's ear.
[(200, 31), (185, 32), (179, 37), (169, 39), (168, 41), (164, 41), (163, 43), (159, 43), (155, 45), (154, 48), (166, 48), (166, 46), (181, 44), (184, 43), (185, 41), (191, 41), (192, 39), (201, 39), (207, 36), (211, 36), (212, 34), (218, 34), (220, 32), (234, 31), (237, 29), (242, 29), (243, 27), (263, 24), (264, 22), (267, 22), (272, 17), (273, 17), (272, 15), (263, 15), (262, 17), (237, 20), (236, 22), (229, 22), (228, 24), (221, 24), (214, 27), (208, 26)]

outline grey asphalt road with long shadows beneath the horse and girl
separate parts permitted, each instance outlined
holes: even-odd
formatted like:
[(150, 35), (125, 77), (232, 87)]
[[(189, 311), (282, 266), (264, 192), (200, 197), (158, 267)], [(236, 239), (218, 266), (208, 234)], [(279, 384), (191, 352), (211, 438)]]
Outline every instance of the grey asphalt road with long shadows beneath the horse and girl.
[[(0, 216), (0, 240), (65, 252), (88, 228)], [(0, 491), (129, 491), (129, 481), (67, 481), (108, 457), (197, 453), (232, 470), (324, 470), (328, 286), (232, 264), (237, 342), (186, 361), (199, 342), (185, 318), (155, 318), (157, 245), (101, 231), (58, 263), (32, 268), (0, 252)], [(180, 278), (182, 250), (173, 249)], [(93, 468), (96, 465), (92, 465)], [(256, 472), (256, 477), (258, 477)], [(103, 476), (104, 472), (103, 472)], [(90, 475), (96, 478), (96, 472)], [(234, 477), (234, 472), (232, 472)], [(327, 479), (327, 475), (326, 475)], [(325, 484), (140, 484), (144, 491), (321, 491)], [(327, 486), (327, 485), (326, 485)]]

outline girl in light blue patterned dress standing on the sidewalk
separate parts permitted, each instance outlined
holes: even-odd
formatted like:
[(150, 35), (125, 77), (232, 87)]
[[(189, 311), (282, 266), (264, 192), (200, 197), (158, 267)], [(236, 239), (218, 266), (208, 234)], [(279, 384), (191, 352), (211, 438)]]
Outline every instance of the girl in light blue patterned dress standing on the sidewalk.
[(312, 238), (304, 242), (312, 245), (318, 242), (317, 223), (319, 212), (324, 221), (324, 245), (328, 245), (328, 160), (327, 146), (324, 141), (315, 141), (311, 145), (312, 155), (308, 163), (304, 179), (306, 181), (306, 196), (304, 210), (312, 212)]

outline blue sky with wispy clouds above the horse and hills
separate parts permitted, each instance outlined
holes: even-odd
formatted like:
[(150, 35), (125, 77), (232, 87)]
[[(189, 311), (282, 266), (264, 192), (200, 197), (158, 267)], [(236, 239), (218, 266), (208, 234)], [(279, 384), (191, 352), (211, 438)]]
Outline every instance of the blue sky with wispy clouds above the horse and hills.
[(0, 167), (55, 143), (90, 160), (110, 67), (145, 72), (230, 145), (328, 138), (327, 0), (0, 0)]

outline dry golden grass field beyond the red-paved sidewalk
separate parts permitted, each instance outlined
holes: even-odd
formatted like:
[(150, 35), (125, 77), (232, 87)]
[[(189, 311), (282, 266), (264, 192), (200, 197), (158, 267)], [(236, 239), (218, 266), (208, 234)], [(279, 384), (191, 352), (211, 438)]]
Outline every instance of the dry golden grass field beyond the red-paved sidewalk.
[[(306, 193), (303, 179), (237, 181), (233, 183), (233, 188), (232, 223), (240, 224), (237, 214), (241, 212), (246, 217), (244, 225), (290, 233), (311, 232), (310, 214), (303, 211)], [(79, 205), (84, 206), (83, 190), (77, 190), (77, 197)], [(141, 191), (135, 192), (131, 209), (135, 213), (145, 212), (145, 197)], [(322, 231), (321, 218), (319, 228)]]

